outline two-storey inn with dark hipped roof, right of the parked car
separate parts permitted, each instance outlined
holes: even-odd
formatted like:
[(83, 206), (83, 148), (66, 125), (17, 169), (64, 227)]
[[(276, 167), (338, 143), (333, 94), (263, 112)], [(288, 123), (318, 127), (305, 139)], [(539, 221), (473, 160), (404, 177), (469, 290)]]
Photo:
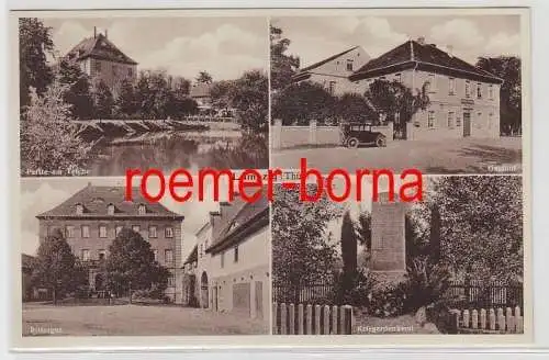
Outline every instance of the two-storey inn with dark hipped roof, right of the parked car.
[[(306, 72), (303, 69), (295, 80), (316, 81), (305, 77)], [(407, 139), (500, 136), (503, 80), (453, 56), (451, 47), (445, 52), (423, 37), (407, 41), (333, 81), (339, 81), (336, 89), (363, 94), (377, 79), (399, 81), (414, 92), (425, 86), (429, 105), (405, 125)], [(395, 117), (393, 121), (400, 122), (399, 115)]]

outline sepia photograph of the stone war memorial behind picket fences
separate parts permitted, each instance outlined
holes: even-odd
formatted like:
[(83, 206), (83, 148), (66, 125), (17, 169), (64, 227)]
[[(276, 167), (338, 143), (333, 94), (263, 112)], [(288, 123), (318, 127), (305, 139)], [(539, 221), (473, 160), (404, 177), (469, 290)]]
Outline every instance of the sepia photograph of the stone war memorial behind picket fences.
[(272, 333), (523, 334), (522, 178), (425, 177), (424, 187), (419, 202), (385, 183), (378, 201), (365, 187), (360, 202), (304, 203), (280, 185)]

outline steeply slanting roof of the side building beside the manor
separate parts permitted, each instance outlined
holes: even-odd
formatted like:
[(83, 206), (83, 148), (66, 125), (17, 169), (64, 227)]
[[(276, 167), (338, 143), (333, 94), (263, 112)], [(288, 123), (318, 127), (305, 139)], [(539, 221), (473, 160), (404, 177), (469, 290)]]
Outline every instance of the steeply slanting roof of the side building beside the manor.
[[(214, 232), (212, 246), (206, 252), (219, 252), (235, 245), (257, 229), (269, 224), (269, 203), (266, 196), (260, 196), (255, 202), (240, 202), (240, 209), (229, 218), (220, 224), (220, 230)], [(234, 204), (233, 205), (238, 205)]]

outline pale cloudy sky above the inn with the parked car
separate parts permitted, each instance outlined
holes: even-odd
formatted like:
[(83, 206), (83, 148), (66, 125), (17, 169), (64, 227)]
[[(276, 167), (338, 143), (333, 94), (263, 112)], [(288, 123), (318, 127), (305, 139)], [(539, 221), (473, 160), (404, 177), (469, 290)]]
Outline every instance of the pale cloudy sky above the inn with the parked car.
[(291, 41), (288, 53), (300, 56), (301, 67), (357, 45), (378, 57), (417, 37), (441, 49), (451, 45), (455, 56), (472, 64), (479, 56), (520, 54), (518, 15), (307, 16), (271, 23)]

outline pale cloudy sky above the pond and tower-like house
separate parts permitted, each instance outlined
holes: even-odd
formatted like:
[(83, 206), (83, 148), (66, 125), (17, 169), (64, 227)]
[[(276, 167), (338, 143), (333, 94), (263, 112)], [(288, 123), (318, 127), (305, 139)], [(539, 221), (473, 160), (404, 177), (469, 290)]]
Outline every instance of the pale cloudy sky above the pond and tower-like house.
[(205, 70), (214, 80), (236, 79), (268, 67), (265, 18), (101, 18), (43, 19), (52, 27), (58, 55), (85, 37), (108, 32), (108, 38), (138, 63), (138, 69), (164, 68), (194, 79)]

